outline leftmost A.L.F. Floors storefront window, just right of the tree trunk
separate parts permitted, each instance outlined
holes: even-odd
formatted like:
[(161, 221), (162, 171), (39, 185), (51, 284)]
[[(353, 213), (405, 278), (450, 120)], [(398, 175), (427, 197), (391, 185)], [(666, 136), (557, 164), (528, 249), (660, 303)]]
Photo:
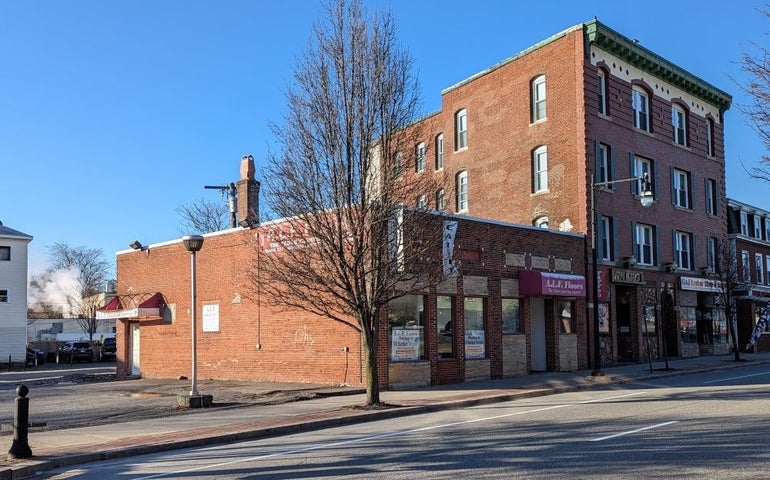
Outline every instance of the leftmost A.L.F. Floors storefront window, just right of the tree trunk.
[(390, 302), (390, 359), (425, 359), (425, 308), (422, 295), (404, 295)]

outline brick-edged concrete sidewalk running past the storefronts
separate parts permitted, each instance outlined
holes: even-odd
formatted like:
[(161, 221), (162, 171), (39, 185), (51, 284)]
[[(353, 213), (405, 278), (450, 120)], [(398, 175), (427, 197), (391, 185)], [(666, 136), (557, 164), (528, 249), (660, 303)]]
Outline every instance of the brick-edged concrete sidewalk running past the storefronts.
[(741, 356), (746, 361), (735, 362), (732, 355), (669, 360), (669, 370), (664, 369), (663, 362), (655, 362), (652, 372), (648, 363), (605, 368), (603, 370), (610, 377), (609, 382), (590, 380), (586, 378), (590, 375), (590, 370), (581, 370), (574, 373), (536, 373), (516, 378), (383, 391), (381, 400), (394, 407), (375, 410), (350, 408), (366, 401), (363, 390), (349, 390), (345, 395), (280, 405), (232, 409), (217, 408), (218, 392), (206, 391), (214, 396), (215, 406), (189, 415), (169, 416), (160, 421), (140, 420), (30, 432), (29, 445), (34, 457), (14, 461), (8, 467), (0, 467), (0, 480), (24, 478), (38, 471), (162, 450), (255, 439), (441, 409), (597, 388), (613, 383), (770, 364), (770, 353)]

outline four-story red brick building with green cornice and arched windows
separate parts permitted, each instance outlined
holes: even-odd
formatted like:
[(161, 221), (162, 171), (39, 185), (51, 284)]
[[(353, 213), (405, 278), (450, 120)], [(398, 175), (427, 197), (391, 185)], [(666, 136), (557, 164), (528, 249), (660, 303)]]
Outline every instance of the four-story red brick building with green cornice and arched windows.
[[(645, 360), (647, 345), (654, 357), (722, 351), (700, 348), (693, 285), (727, 232), (731, 101), (594, 20), (444, 90), (441, 111), (413, 126), (431, 161), (412, 171), (451, 179), (427, 195), (437, 209), (587, 234), (590, 265), (595, 219), (603, 362)], [(642, 175), (649, 208), (630, 181)]]

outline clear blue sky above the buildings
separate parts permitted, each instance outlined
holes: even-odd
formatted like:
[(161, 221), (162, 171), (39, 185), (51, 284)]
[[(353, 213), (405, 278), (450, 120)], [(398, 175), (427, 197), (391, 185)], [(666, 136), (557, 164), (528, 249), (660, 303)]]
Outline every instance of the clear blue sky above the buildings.
[[(570, 26), (601, 22), (746, 103), (742, 49), (770, 21), (741, 0), (367, 0), (391, 9), (424, 110), (442, 89)], [(257, 161), (319, 14), (311, 0), (0, 1), (0, 221), (33, 235), (30, 269), (55, 242), (100, 248), (178, 238), (176, 208)], [(726, 114), (727, 194), (770, 210), (740, 165), (765, 153)], [(224, 201), (224, 199), (222, 199)]]

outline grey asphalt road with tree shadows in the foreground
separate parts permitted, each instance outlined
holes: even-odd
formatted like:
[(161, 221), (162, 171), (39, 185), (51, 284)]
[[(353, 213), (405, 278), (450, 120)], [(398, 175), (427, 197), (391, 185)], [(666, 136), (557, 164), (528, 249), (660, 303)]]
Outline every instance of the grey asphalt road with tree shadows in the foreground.
[(52, 479), (768, 478), (755, 366), (45, 472)]

